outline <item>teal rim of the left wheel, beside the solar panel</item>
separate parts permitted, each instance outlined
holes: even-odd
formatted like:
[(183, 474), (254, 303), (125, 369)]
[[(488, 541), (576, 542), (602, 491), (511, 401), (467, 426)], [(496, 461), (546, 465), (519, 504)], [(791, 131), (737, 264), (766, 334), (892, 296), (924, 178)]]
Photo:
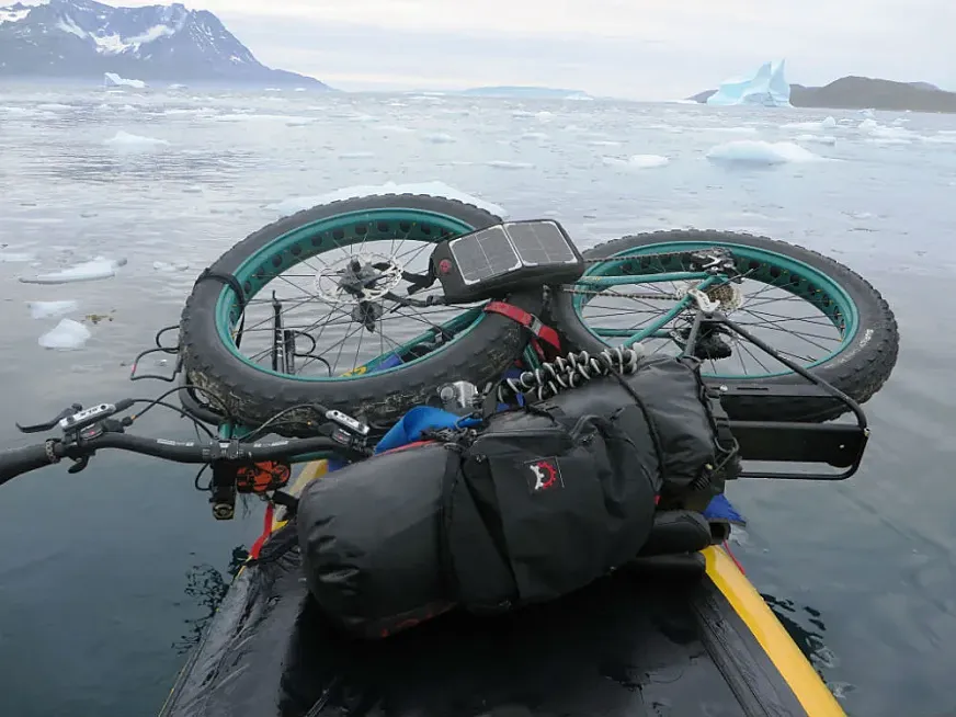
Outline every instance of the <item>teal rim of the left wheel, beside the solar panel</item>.
[[(276, 270), (282, 272), (287, 271), (312, 257), (335, 249), (368, 241), (405, 240), (437, 243), (455, 236), (468, 234), (476, 228), (455, 217), (436, 212), (424, 212), (422, 209), (382, 208), (350, 212), (310, 221), (277, 237), (246, 259), (234, 272), (234, 276), (242, 286), (242, 291), (246, 293), (246, 300), (248, 301), (262, 291), (272, 278), (278, 275)], [(288, 380), (311, 383), (357, 380), (364, 376), (364, 374), (329, 377), (295, 376), (273, 371), (270, 367), (251, 361), (239, 352), (232, 339), (232, 331), (239, 321), (240, 314), (236, 293), (231, 287), (226, 286), (216, 301), (216, 331), (219, 340), (230, 353), (252, 368)], [(465, 311), (442, 327), (448, 331), (456, 332), (452, 341), (448, 341), (425, 356), (402, 363), (399, 366), (376, 371), (375, 375), (399, 372), (413, 364), (431, 360), (462, 337), (474, 331), (475, 327), (483, 319), (485, 315), (482, 311), (475, 309)], [(414, 341), (406, 343), (384, 356), (366, 362), (365, 365), (372, 365), (375, 361), (410, 349), (413, 345), (416, 345)]]

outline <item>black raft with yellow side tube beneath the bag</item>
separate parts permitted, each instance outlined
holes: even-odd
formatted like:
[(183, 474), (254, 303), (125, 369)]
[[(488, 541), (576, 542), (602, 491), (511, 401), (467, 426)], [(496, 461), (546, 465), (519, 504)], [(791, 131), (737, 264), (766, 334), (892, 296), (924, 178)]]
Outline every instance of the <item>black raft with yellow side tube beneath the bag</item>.
[[(321, 473), (310, 465), (300, 481)], [(720, 547), (504, 617), (451, 613), (368, 642), (327, 623), (275, 528), (161, 717), (844, 715)]]

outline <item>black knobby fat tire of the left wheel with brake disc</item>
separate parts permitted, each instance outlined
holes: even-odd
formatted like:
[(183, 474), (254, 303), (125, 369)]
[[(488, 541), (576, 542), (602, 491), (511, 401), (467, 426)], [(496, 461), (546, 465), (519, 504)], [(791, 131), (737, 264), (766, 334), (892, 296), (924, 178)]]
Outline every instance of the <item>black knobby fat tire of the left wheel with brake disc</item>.
[[(223, 254), (209, 271), (232, 275), (250, 255), (303, 225), (350, 212), (396, 207), (444, 214), (475, 229), (502, 221), (485, 209), (439, 196), (388, 194), (343, 200), (305, 209), (259, 229)], [(189, 384), (218, 397), (231, 417), (253, 426), (280, 411), (308, 402), (363, 416), (368, 421), (394, 421), (424, 403), (444, 383), (466, 380), (480, 387), (500, 379), (528, 340), (526, 330), (515, 321), (489, 314), (434, 358), (399, 372), (341, 382), (296, 380), (258, 371), (223, 344), (215, 318), (223, 291), (224, 285), (213, 281), (197, 282), (193, 287), (180, 322), (183, 369)], [(538, 315), (543, 298), (543, 291), (537, 288), (513, 294), (508, 301)], [(314, 420), (311, 411), (294, 411), (283, 417), (282, 426), (274, 432), (287, 436), (314, 434), (315, 429), (305, 425), (305, 421)]]

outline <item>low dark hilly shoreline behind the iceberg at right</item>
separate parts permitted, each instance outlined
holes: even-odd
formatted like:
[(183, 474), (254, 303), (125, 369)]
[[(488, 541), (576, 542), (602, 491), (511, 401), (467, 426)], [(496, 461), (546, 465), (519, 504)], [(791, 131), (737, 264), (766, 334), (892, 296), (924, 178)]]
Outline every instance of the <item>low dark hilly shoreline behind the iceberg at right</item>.
[[(687, 99), (703, 104), (716, 91), (706, 90)], [(790, 104), (824, 110), (956, 113), (956, 92), (946, 92), (927, 82), (847, 76), (823, 87), (790, 84)]]

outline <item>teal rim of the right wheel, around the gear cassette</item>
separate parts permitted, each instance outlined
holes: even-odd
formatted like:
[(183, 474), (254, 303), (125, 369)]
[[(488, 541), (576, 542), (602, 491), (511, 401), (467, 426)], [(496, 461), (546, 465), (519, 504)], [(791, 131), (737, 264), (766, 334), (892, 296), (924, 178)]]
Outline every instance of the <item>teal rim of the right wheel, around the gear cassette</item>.
[[(584, 276), (617, 276), (618, 272), (623, 271), (624, 275), (635, 276), (635, 283), (653, 283), (655, 272), (649, 262), (639, 261), (641, 257), (648, 254), (661, 254), (668, 252), (687, 252), (713, 247), (725, 247), (733, 252), (737, 261), (737, 271), (741, 274), (748, 274), (749, 278), (756, 278), (764, 283), (771, 284), (785, 278), (783, 284), (774, 284), (778, 288), (789, 292), (794, 296), (808, 301), (810, 305), (818, 308), (833, 326), (841, 332), (841, 342), (838, 349), (832, 351), (827, 356), (815, 361), (811, 364), (804, 366), (805, 368), (813, 368), (831, 361), (840, 355), (853, 342), (856, 332), (860, 328), (860, 311), (856, 304), (850, 295), (843, 289), (840, 284), (830, 278), (819, 269), (815, 269), (809, 264), (767, 249), (760, 249), (747, 244), (738, 244), (732, 242), (693, 242), (693, 241), (673, 241), (656, 244), (646, 244), (626, 249), (622, 252), (607, 257), (601, 263), (593, 264)], [(627, 259), (638, 259), (636, 262), (626, 262)], [(657, 260), (662, 265), (661, 271), (679, 271), (680, 258)], [(646, 273), (645, 273), (646, 272)], [(776, 275), (773, 274), (776, 272)], [(583, 281), (582, 277), (579, 281)], [(587, 305), (585, 295), (578, 294), (573, 298), (574, 311), (579, 320), (587, 330), (600, 341), (607, 343), (604, 338), (588, 326), (584, 317), (581, 315), (583, 307)], [(732, 312), (731, 312), (732, 314)], [(611, 344), (608, 344), (611, 345)], [(704, 373), (704, 372), (702, 372)], [(776, 373), (748, 374), (746, 378), (772, 378), (775, 376), (786, 376), (790, 374), (789, 369)], [(707, 374), (705, 376), (717, 379), (735, 379), (743, 378), (737, 375), (724, 374)]]

